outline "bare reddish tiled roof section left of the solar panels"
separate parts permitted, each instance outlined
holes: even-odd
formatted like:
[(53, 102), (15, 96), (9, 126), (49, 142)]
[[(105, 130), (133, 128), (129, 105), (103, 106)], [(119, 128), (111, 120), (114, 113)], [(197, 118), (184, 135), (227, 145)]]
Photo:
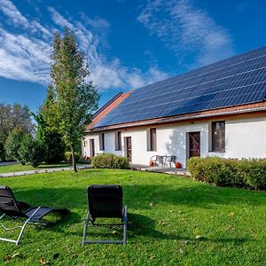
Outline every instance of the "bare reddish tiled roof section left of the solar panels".
[(93, 129), (95, 127), (95, 125), (98, 122), (100, 122), (102, 119), (104, 119), (105, 116), (108, 113), (112, 112), (113, 108), (115, 108), (116, 106), (120, 105), (121, 102), (125, 98), (129, 97), (130, 93), (131, 93), (131, 91), (126, 92), (126, 93), (119, 92), (111, 100), (109, 100), (104, 106), (102, 106), (101, 108), (99, 108), (98, 111), (93, 114), (92, 121), (86, 127), (86, 130), (85, 131), (90, 131), (91, 129)]

